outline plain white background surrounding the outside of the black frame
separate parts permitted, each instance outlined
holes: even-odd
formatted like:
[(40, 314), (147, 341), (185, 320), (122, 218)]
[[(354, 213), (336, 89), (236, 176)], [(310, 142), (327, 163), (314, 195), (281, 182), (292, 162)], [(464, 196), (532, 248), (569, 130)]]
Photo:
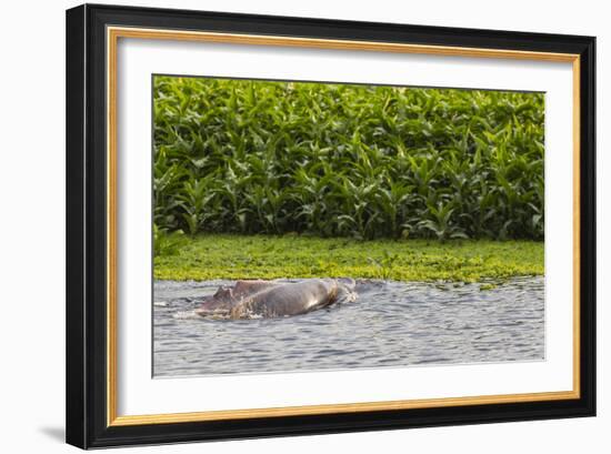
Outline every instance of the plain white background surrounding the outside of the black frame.
[[(124, 452), (608, 452), (611, 312), (610, 11), (603, 1), (148, 0), (100, 3), (188, 8), (598, 37), (599, 416), (372, 432)], [(76, 1), (13, 1), (0, 24), (0, 450), (69, 452), (64, 421), (64, 9)], [(605, 256), (607, 255), (607, 256)], [(7, 291), (8, 290), (8, 291)], [(605, 383), (607, 382), (607, 383)], [(138, 450), (138, 451), (136, 451)]]

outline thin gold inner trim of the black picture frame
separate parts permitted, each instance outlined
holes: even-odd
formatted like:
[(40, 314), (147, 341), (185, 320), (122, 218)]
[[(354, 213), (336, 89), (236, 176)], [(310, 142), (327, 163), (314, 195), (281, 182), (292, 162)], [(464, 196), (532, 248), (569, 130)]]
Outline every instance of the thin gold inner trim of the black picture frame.
[[(500, 394), (405, 401), (355, 402), (349, 404), (206, 411), (146, 415), (117, 415), (117, 46), (119, 38), (277, 46), (329, 50), (413, 53), (570, 62), (573, 71), (573, 389), (561, 392)], [(107, 424), (127, 426), (237, 418), (358, 413), (388, 410), (431, 408), (459, 405), (544, 402), (580, 397), (580, 57), (572, 53), (447, 46), (403, 44), (352, 40), (327, 40), (262, 34), (198, 32), (184, 30), (107, 28)]]

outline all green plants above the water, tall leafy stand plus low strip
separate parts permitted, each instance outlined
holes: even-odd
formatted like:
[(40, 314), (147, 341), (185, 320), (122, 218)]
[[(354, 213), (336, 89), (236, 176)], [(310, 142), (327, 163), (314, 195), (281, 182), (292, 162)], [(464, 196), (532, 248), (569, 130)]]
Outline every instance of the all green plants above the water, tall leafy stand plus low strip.
[[(158, 234), (543, 238), (542, 93), (156, 77), (153, 97)], [(201, 236), (156, 275), (542, 272), (528, 242), (259, 241)]]

